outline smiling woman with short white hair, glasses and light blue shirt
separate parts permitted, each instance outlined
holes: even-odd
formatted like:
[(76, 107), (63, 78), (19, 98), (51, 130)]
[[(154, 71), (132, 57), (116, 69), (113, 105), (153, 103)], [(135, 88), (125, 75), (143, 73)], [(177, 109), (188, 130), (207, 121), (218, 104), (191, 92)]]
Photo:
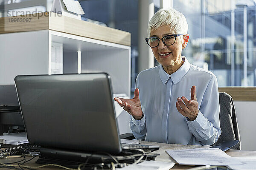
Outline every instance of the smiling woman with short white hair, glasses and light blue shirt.
[(138, 74), (133, 99), (114, 98), (131, 115), (137, 139), (211, 145), (221, 134), (215, 75), (181, 56), (187, 31), (186, 18), (175, 9), (160, 9), (148, 23), (145, 40), (160, 65)]

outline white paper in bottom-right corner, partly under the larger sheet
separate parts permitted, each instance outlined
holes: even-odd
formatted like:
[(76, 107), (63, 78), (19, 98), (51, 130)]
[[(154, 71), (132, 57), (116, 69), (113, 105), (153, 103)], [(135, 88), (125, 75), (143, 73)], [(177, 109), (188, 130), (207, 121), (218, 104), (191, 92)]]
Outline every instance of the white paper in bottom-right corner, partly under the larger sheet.
[(234, 157), (241, 161), (243, 165), (229, 165), (233, 170), (255, 170), (256, 169), (256, 156)]

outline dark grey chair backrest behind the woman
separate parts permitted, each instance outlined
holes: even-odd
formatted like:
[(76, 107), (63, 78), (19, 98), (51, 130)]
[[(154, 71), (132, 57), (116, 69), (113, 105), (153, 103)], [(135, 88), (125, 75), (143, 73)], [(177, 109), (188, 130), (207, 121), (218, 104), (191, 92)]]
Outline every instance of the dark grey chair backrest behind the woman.
[[(227, 93), (219, 93), (221, 136), (217, 143), (224, 140), (239, 140), (240, 134), (236, 120), (236, 110), (232, 97)], [(241, 141), (240, 141), (241, 142)], [(241, 149), (241, 145), (238, 149)]]

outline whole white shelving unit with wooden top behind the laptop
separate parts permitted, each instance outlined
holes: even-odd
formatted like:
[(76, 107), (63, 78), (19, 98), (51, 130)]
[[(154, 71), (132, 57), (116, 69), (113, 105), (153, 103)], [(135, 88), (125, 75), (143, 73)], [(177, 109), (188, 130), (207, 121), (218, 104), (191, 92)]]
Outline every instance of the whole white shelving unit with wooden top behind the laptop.
[[(111, 75), (113, 93), (130, 97), (130, 33), (64, 16), (45, 17), (39, 23), (34, 20), (30, 26), (9, 26), (13, 27), (14, 30), (6, 31), (0, 25), (0, 84), (14, 84), (16, 75), (54, 74), (52, 45), (58, 44), (64, 74), (107, 72)], [(120, 133), (130, 132), (130, 116), (119, 105), (115, 106)]]

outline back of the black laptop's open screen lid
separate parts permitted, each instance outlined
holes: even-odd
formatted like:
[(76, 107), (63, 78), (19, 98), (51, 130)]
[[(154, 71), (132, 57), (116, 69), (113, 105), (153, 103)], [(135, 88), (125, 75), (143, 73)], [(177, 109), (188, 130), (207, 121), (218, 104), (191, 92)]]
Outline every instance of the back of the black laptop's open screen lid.
[(31, 144), (121, 151), (108, 74), (17, 76), (15, 85)]

